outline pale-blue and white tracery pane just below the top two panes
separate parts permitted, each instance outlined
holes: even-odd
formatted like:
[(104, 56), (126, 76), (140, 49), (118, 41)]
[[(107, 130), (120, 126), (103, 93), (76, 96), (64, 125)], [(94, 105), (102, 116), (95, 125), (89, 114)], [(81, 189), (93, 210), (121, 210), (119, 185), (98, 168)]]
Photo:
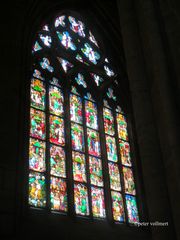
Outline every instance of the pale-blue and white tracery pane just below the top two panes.
[(61, 42), (61, 44), (66, 48), (66, 49), (71, 49), (73, 51), (75, 51), (77, 48), (75, 46), (75, 44), (72, 42), (72, 38), (69, 34), (69, 32), (65, 31), (65, 32), (56, 32), (58, 35), (58, 38)]

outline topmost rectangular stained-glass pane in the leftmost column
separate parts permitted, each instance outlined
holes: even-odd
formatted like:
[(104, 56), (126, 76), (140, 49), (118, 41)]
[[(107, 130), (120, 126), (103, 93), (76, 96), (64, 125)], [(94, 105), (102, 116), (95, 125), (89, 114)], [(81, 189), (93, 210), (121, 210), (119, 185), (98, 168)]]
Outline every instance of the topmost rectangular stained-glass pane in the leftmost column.
[(38, 79), (31, 80), (31, 106), (44, 110), (45, 109), (45, 84)]

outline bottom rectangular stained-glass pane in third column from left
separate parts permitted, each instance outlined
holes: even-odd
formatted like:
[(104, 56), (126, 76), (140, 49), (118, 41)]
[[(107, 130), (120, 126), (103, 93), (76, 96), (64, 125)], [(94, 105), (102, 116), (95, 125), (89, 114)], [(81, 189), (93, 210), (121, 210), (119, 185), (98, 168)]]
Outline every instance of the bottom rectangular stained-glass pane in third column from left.
[(88, 192), (85, 185), (74, 184), (74, 204), (76, 214), (89, 215)]

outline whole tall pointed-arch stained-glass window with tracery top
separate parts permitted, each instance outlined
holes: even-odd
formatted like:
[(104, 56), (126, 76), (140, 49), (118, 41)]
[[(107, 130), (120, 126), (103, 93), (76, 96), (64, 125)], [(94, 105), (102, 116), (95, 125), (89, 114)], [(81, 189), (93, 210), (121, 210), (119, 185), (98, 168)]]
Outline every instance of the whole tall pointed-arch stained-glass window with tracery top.
[(59, 14), (37, 32), (30, 81), (30, 207), (139, 221), (117, 85), (104, 49), (77, 14)]

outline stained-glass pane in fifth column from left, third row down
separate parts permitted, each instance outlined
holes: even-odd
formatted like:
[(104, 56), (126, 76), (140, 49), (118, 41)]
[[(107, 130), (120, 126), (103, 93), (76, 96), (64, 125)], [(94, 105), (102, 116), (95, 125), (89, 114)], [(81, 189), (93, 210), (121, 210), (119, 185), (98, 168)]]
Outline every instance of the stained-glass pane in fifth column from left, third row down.
[(109, 177), (110, 177), (110, 187), (112, 190), (120, 191), (121, 184), (120, 184), (120, 174), (118, 165), (115, 163), (108, 163), (109, 166)]

